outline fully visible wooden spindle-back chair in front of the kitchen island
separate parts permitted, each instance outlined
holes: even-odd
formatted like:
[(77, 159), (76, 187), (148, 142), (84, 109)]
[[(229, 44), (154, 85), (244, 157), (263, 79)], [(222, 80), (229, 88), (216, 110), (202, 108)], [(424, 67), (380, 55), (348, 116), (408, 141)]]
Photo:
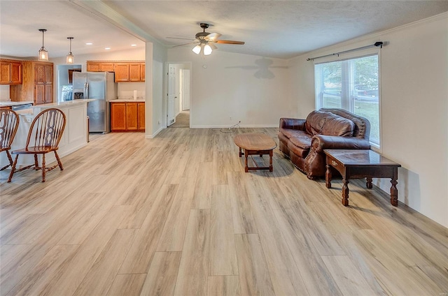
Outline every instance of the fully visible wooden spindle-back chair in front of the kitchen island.
[[(59, 141), (62, 138), (62, 133), (64, 133), (65, 123), (66, 117), (64, 112), (56, 108), (49, 108), (37, 114), (29, 128), (25, 148), (11, 152), (12, 154), (16, 154), (16, 156), (8, 182), (11, 182), (15, 172), (20, 172), (27, 168), (42, 170), (42, 182), (45, 182), (45, 173), (56, 168), (58, 165), (61, 170), (64, 170), (64, 168), (62, 168), (61, 160), (57, 155), (57, 149), (59, 148)], [(55, 152), (57, 164), (50, 168), (46, 168), (45, 154), (51, 151)], [(16, 170), (15, 166), (17, 165), (17, 160), (20, 154), (34, 154), (34, 165), (27, 165)], [(42, 155), (41, 166), (38, 165), (38, 154)]]

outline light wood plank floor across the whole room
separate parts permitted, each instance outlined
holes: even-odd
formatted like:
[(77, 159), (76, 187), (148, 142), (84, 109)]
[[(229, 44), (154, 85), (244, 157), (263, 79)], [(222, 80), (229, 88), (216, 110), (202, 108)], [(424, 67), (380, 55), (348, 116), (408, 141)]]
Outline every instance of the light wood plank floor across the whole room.
[[(244, 172), (237, 133), (92, 137), (0, 174), (1, 295), (448, 295), (448, 230), (351, 180), (350, 206), (278, 149)], [(255, 162), (269, 161), (254, 156)], [(400, 182), (400, 179), (398, 179)]]

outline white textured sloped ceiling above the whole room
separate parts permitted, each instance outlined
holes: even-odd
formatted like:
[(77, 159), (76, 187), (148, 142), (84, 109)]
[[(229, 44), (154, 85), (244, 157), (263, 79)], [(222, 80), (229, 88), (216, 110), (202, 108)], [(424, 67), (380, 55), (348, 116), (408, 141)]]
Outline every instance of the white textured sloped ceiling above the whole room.
[(221, 39), (246, 42), (218, 44), (218, 50), (290, 58), (445, 11), (448, 1), (2, 0), (0, 54), (35, 57), (41, 28), (48, 29), (45, 47), (51, 58), (67, 54), (69, 36), (75, 55), (142, 47), (151, 36), (170, 47), (188, 40), (167, 37), (194, 38), (202, 31), (199, 23), (207, 22), (207, 31), (222, 34)]

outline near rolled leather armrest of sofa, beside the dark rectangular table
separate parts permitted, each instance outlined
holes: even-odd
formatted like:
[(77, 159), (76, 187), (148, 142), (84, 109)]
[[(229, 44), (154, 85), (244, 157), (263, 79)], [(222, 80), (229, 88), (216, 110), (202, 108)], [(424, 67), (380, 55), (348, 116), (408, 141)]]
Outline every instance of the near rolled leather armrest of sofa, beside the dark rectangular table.
[(323, 149), (370, 149), (369, 140), (334, 135), (314, 135), (311, 149), (323, 153)]

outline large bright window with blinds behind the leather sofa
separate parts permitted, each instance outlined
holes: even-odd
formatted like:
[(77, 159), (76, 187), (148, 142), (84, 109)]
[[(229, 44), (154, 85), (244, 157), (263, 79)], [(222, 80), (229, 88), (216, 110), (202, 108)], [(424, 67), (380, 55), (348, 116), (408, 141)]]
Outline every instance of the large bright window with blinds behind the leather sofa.
[(341, 108), (370, 121), (379, 147), (378, 55), (314, 65), (316, 108)]

